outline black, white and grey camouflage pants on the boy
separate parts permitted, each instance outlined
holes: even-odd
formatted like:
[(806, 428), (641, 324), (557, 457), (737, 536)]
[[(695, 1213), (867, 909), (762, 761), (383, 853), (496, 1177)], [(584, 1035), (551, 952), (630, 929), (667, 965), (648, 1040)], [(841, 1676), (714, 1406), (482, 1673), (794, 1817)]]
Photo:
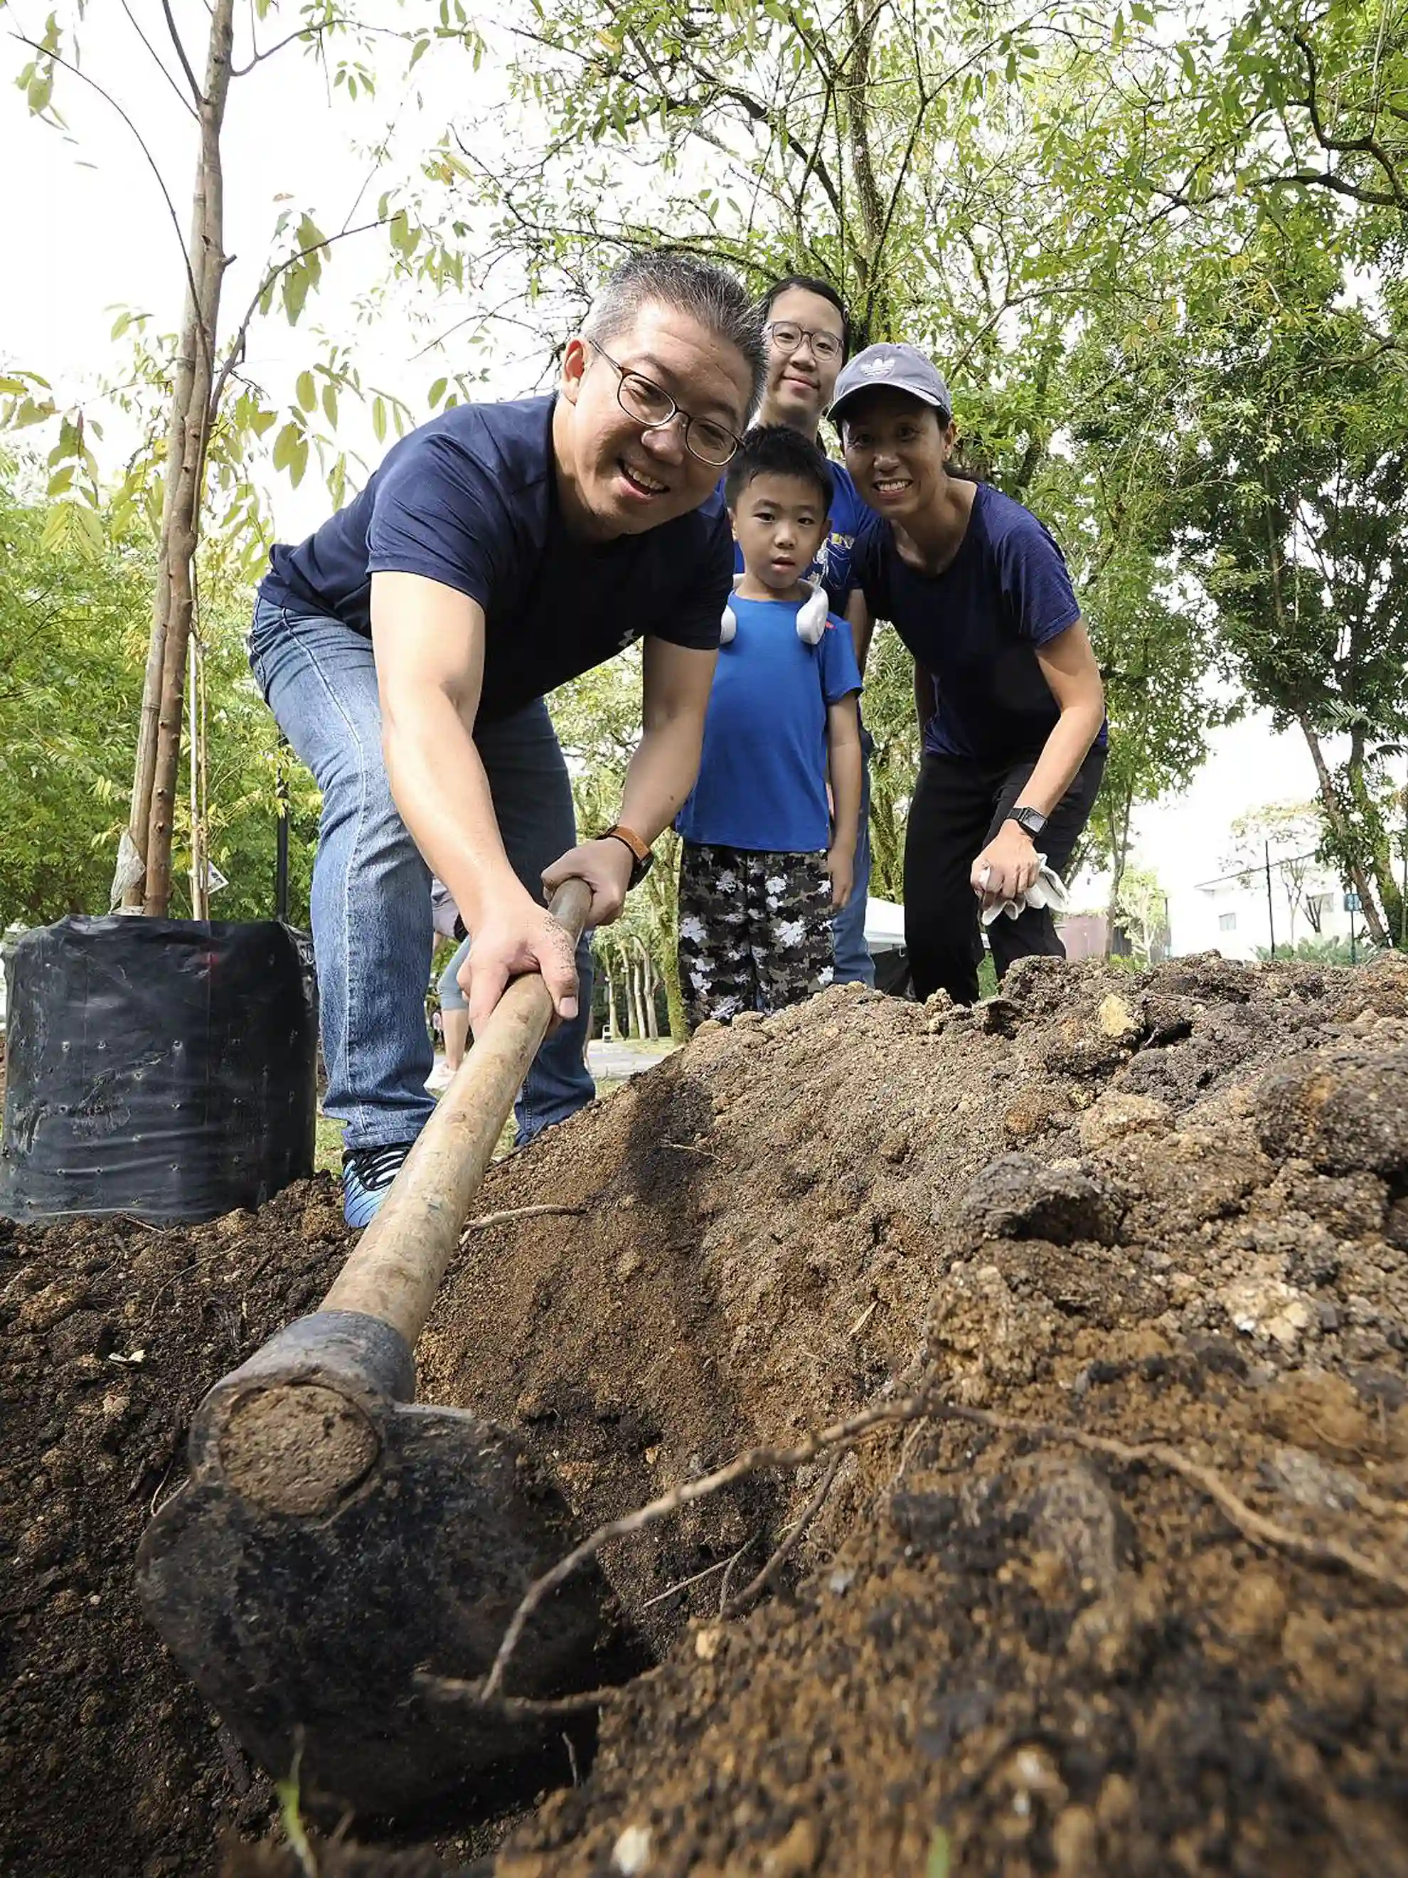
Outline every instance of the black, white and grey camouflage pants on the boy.
[(834, 977), (826, 854), (683, 843), (680, 984), (691, 1031), (706, 1018), (781, 1010)]

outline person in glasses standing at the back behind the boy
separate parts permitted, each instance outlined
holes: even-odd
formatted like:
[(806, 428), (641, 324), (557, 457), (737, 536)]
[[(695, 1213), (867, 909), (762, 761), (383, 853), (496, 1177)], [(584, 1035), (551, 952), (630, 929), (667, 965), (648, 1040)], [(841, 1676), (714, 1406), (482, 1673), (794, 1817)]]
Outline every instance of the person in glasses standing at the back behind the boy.
[[(828, 280), (788, 274), (775, 280), (762, 297), (768, 338), (768, 383), (755, 423), (787, 424), (809, 443), (819, 443), (820, 415), (832, 402), (835, 376), (845, 364), (850, 323), (841, 295)], [(820, 580), (832, 603), (850, 623), (856, 665), (864, 676), (871, 640), (871, 618), (864, 593), (850, 580), (850, 546), (865, 503), (856, 494), (845, 464), (832, 462), (832, 530), (807, 578)], [(742, 571), (742, 560), (736, 562)], [(875, 984), (875, 963), (865, 945), (865, 896), (871, 879), (871, 793), (865, 762), (869, 734), (862, 729), (862, 796), (856, 830), (856, 864), (850, 900), (832, 920), (835, 935), (835, 984)]]

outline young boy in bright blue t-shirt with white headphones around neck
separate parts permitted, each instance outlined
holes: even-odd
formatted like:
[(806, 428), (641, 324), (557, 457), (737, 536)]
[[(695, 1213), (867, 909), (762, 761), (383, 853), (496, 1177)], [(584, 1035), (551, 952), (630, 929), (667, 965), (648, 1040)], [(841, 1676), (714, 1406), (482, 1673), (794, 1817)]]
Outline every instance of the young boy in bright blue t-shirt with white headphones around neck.
[(725, 496), (743, 573), (725, 610), (698, 781), (676, 821), (691, 1029), (781, 1010), (832, 982), (832, 916), (850, 898), (860, 815), (850, 627), (803, 578), (830, 528), (830, 464), (787, 424), (749, 430)]

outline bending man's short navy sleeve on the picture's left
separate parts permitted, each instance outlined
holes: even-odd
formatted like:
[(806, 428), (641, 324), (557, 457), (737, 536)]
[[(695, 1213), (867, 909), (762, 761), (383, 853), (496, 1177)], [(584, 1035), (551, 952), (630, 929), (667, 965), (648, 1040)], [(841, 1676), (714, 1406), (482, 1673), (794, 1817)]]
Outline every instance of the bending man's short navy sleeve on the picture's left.
[(381, 471), (368, 573), (424, 575), (488, 612), (511, 528), (488, 470), (443, 436), (413, 439)]

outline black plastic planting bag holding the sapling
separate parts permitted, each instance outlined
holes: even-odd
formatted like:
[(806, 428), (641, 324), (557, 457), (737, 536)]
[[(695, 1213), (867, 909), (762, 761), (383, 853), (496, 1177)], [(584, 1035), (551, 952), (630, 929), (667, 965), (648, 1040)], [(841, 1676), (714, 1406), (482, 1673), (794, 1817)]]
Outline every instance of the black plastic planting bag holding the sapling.
[(0, 1213), (178, 1224), (312, 1174), (317, 992), (291, 928), (69, 918), (6, 975)]

